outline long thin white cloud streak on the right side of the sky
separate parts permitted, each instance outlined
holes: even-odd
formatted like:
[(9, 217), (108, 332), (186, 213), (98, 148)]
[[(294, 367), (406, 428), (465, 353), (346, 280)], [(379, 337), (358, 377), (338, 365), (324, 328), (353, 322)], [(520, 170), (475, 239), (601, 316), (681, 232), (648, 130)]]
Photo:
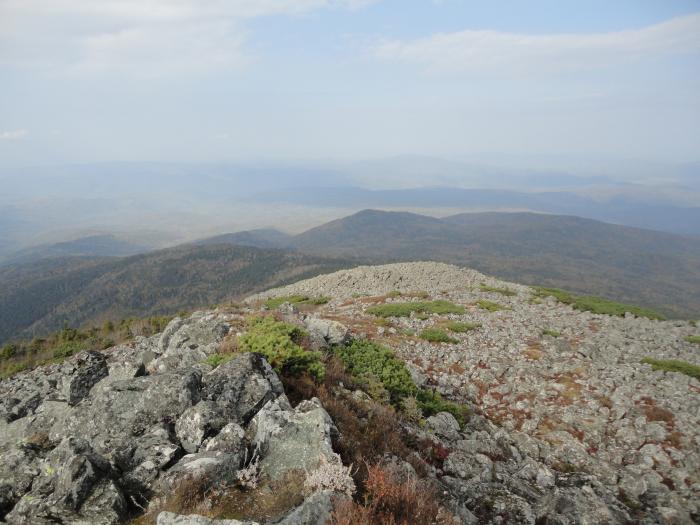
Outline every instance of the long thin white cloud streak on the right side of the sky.
[(700, 14), (642, 29), (588, 34), (466, 30), (417, 40), (385, 40), (373, 53), (431, 72), (527, 72), (606, 66), (660, 54), (700, 51)]

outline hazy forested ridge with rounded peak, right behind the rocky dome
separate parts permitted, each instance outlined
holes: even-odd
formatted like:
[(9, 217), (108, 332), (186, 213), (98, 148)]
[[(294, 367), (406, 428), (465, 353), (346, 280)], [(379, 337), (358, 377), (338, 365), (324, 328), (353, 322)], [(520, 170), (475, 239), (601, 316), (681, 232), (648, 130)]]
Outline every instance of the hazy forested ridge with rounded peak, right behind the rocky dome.
[(435, 219), (366, 210), (302, 233), (293, 245), (375, 262), (449, 262), (700, 316), (700, 241), (590, 219), (532, 213)]

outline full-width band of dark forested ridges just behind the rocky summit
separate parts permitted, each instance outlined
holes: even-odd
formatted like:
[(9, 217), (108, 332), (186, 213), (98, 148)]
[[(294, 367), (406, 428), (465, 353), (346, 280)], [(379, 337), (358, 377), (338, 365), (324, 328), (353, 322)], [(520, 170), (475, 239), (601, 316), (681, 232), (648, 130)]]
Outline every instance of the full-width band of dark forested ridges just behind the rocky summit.
[(48, 258), (0, 266), (0, 342), (64, 323), (208, 306), (360, 263), (415, 260), (700, 318), (699, 239), (571, 216), (438, 219), (365, 210), (295, 236), (250, 230), (130, 257), (96, 257), (97, 246), (136, 247), (89, 239), (34, 252)]

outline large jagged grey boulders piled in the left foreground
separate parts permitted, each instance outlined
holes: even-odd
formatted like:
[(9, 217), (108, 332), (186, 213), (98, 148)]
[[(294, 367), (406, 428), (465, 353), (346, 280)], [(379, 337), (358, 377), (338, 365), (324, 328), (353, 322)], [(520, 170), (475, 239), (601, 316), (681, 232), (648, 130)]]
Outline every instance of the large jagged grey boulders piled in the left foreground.
[[(241, 484), (264, 497), (339, 464), (326, 411), (315, 400), (292, 408), (263, 358), (204, 362), (240, 318), (200, 312), (0, 382), (0, 521), (117, 524), (149, 511), (161, 525), (209, 523), (161, 503)], [(261, 521), (323, 523), (330, 492), (303, 488)]]

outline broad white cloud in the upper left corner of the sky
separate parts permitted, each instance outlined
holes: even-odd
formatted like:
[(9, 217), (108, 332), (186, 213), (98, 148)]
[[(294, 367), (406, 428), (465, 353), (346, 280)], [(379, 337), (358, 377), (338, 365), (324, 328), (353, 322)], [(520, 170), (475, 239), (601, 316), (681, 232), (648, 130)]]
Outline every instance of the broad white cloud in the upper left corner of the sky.
[(154, 76), (236, 68), (245, 21), (376, 0), (0, 0), (0, 64)]

